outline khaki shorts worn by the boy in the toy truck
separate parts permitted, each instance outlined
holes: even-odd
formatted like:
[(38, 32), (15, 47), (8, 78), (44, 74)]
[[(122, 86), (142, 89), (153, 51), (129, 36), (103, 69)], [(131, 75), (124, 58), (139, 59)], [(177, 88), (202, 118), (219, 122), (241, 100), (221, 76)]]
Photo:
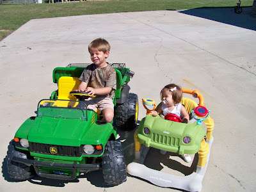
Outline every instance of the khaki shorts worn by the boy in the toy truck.
[(97, 111), (99, 109), (99, 113), (105, 108), (111, 108), (114, 111), (114, 104), (111, 98), (89, 98), (84, 100), (88, 109), (92, 109), (93, 111)]

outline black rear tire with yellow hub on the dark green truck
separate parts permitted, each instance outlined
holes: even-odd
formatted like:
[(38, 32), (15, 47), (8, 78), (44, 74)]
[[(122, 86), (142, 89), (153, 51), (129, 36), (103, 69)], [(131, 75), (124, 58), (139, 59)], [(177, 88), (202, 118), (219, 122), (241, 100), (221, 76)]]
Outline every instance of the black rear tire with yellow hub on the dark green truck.
[(116, 125), (125, 130), (134, 129), (138, 121), (138, 95), (129, 93), (128, 99), (123, 104), (115, 107)]

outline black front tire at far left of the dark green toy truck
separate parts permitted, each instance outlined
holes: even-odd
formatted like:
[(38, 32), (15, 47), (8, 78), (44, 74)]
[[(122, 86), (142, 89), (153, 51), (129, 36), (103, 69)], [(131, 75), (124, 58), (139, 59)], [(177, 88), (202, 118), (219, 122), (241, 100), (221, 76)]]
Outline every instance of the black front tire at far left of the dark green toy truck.
[(14, 145), (14, 141), (10, 141), (7, 152), (7, 170), (12, 179), (27, 180), (35, 175), (35, 171), (31, 166), (23, 163), (12, 161), (12, 157), (21, 157), (27, 159), (26, 154), (20, 152)]

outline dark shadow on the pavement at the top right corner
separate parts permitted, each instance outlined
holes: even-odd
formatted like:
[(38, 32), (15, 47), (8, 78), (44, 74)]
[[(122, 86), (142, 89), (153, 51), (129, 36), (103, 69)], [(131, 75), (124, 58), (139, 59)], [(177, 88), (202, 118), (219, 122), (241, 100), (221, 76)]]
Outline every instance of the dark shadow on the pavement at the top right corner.
[(232, 8), (196, 8), (192, 10), (180, 11), (186, 15), (193, 15), (202, 17), (204, 19), (215, 20), (223, 22), (232, 26), (237, 26), (245, 29), (252, 29), (256, 31), (256, 18), (251, 16), (252, 6), (243, 7), (242, 13), (235, 13), (234, 7)]

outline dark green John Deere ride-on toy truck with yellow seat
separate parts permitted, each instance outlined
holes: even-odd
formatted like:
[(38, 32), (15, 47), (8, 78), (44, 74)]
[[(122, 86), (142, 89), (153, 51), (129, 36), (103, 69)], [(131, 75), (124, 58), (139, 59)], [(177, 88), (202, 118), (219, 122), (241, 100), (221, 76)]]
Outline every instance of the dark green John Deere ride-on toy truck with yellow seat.
[[(38, 102), (36, 116), (18, 129), (7, 152), (7, 168), (13, 179), (26, 180), (35, 175), (50, 179), (76, 179), (80, 173), (102, 169), (104, 182), (115, 186), (125, 182), (122, 145), (116, 141), (116, 127), (101, 122), (99, 113), (87, 109), (74, 94), (78, 77), (88, 64), (72, 64), (53, 70), (58, 90), (50, 99)], [(125, 64), (111, 64), (116, 70), (116, 125), (136, 127), (138, 96), (129, 93), (127, 83), (133, 72)], [(70, 93), (71, 92), (71, 93)]]

